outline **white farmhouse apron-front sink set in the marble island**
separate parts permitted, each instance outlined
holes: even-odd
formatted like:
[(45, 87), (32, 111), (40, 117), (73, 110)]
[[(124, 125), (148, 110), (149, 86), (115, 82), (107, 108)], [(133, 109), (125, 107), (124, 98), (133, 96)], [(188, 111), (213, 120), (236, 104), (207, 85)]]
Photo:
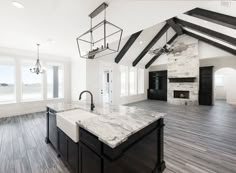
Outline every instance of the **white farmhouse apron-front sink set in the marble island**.
[(76, 122), (94, 116), (97, 115), (82, 109), (57, 113), (57, 127), (77, 143), (79, 142), (79, 127)]

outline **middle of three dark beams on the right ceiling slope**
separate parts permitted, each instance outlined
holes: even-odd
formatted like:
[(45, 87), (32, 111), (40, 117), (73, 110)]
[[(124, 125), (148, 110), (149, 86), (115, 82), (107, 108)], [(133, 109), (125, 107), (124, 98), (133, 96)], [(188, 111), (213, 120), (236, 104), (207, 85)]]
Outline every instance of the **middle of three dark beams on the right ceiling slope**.
[(210, 30), (208, 28), (204, 28), (202, 26), (199, 26), (199, 25), (196, 25), (196, 24), (193, 24), (193, 23), (190, 23), (190, 22), (178, 19), (178, 18), (175, 18), (174, 21), (176, 23), (184, 26), (184, 27), (187, 27), (187, 28), (199, 31), (199, 32), (201, 32), (203, 34), (206, 34), (208, 36), (220, 39), (220, 40), (222, 40), (224, 42), (227, 42), (229, 44), (232, 44), (232, 45), (236, 46), (236, 39), (234, 37), (230, 37), (228, 35), (225, 35), (225, 34), (222, 34), (222, 33), (219, 33), (219, 32), (213, 31), (213, 30)]

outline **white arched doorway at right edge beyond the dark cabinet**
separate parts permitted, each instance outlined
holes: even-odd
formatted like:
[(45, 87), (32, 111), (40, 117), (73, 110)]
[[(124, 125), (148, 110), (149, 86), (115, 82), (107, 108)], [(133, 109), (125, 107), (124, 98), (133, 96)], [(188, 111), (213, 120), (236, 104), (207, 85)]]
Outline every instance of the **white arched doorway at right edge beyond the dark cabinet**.
[(220, 68), (214, 73), (215, 101), (236, 105), (236, 69)]

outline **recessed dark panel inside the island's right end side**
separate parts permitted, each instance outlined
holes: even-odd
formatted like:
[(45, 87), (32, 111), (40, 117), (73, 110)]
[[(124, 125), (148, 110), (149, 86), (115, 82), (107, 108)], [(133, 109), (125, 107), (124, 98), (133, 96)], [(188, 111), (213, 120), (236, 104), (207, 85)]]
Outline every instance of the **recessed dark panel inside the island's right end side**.
[(116, 160), (104, 159), (104, 173), (160, 173), (157, 156), (157, 132), (154, 131), (125, 149)]

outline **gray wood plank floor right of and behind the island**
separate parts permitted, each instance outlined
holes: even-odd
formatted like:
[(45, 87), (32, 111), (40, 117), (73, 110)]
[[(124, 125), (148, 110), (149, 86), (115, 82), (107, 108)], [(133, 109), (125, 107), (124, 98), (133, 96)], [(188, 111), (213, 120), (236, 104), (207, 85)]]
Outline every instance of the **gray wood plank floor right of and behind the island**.
[(165, 173), (236, 173), (236, 106), (130, 104), (165, 112)]

